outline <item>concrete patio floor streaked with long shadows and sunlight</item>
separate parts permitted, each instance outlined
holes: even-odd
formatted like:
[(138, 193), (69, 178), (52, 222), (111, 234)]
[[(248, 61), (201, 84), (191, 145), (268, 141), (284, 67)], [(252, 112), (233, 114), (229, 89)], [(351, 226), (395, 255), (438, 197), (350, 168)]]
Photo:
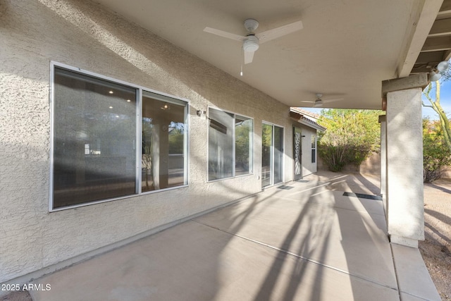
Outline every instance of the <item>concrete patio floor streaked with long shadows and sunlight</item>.
[[(33, 300), (440, 300), (377, 179), (318, 173), (39, 278)], [(285, 189), (283, 189), (285, 188)]]

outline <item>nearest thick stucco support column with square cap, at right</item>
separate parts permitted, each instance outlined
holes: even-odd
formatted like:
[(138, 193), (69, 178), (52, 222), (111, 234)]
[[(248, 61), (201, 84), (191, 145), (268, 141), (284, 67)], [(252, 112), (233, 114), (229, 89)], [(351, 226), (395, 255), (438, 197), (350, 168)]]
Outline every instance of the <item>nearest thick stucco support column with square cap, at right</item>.
[(390, 242), (418, 247), (424, 240), (421, 91), (426, 75), (383, 82), (386, 96), (387, 223)]

